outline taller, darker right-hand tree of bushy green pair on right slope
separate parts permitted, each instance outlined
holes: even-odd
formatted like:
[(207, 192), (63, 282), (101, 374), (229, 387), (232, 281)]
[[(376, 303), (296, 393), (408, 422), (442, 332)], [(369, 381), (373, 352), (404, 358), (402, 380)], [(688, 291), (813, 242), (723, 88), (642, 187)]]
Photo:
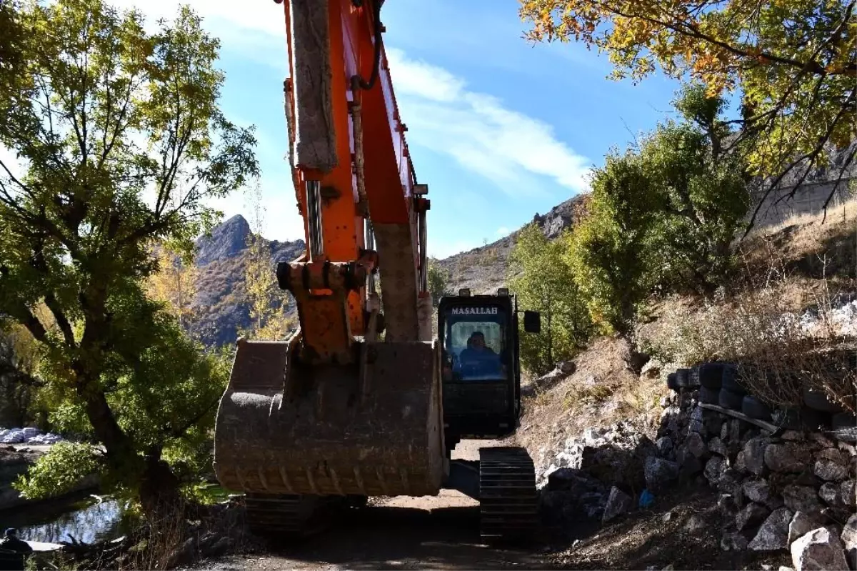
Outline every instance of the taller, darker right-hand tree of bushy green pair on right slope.
[(746, 145), (726, 147), (724, 99), (698, 85), (674, 101), (683, 121), (667, 121), (638, 148), (655, 193), (650, 230), (654, 281), (710, 294), (732, 269), (732, 242), (750, 205)]

